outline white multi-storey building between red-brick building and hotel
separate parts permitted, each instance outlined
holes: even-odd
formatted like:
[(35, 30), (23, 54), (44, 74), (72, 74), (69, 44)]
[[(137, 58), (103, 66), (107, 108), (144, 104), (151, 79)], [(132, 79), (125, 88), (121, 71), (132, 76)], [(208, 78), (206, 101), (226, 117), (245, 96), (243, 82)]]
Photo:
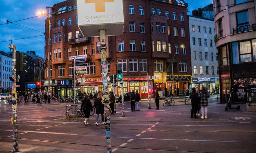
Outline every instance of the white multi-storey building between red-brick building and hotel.
[(214, 43), (214, 20), (189, 16), (192, 87), (219, 91), (218, 51)]

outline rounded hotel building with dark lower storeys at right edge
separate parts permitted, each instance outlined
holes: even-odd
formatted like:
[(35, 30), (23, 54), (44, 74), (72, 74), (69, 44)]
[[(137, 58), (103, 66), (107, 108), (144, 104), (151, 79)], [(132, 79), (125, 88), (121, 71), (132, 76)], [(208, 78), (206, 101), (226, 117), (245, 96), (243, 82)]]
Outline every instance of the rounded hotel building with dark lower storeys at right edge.
[(220, 97), (227, 103), (247, 102), (256, 88), (256, 2), (213, 0), (216, 47), (219, 53)]

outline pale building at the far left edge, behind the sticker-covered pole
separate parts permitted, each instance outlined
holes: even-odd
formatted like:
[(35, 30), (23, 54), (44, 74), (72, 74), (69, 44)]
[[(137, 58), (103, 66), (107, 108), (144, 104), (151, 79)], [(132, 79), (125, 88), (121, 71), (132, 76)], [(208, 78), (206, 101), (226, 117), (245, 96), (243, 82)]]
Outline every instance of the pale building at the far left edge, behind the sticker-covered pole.
[(12, 88), (12, 57), (0, 50), (0, 92), (8, 92)]

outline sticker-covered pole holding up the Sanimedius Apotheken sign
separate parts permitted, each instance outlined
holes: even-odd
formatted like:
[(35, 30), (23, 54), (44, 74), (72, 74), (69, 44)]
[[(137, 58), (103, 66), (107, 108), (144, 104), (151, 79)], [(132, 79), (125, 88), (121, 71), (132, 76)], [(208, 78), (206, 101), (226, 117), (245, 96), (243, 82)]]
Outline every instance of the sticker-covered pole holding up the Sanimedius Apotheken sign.
[[(101, 70), (103, 83), (103, 98), (104, 98), (104, 114), (105, 114), (105, 131), (107, 140), (107, 153), (111, 153), (111, 131), (110, 131), (110, 110), (109, 110), (109, 89), (107, 84), (107, 46), (105, 40), (105, 30), (100, 30), (100, 51), (101, 51)], [(114, 110), (112, 110), (114, 111)]]

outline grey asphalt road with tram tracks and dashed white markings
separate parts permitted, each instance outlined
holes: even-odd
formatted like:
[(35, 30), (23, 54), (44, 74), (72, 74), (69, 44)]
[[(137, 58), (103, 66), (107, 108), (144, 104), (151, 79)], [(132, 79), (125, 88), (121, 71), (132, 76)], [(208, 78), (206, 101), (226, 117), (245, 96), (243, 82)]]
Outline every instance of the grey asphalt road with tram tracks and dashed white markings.
[[(176, 99), (176, 101), (179, 101)], [(190, 118), (191, 105), (183, 100), (160, 110), (148, 109), (140, 102), (140, 111), (131, 112), (125, 103), (111, 115), (111, 141), (114, 153), (255, 153), (256, 113), (225, 111), (216, 99), (209, 101), (208, 119)], [(105, 125), (95, 115), (90, 125), (83, 118), (66, 119), (65, 104), (18, 105), (19, 151), (24, 153), (104, 153)], [(0, 152), (13, 150), (11, 105), (0, 101)]]

